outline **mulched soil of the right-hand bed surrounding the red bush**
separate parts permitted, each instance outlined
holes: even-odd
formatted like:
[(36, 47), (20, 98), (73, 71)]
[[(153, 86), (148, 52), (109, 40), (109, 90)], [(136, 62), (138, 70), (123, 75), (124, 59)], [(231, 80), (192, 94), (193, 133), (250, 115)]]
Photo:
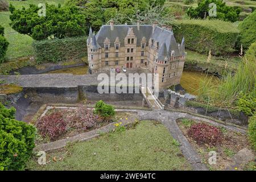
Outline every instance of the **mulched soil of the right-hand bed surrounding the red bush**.
[[(242, 150), (243, 148), (250, 148), (250, 143), (246, 135), (227, 130), (224, 127), (214, 127), (209, 124), (206, 125), (213, 127), (212, 133), (214, 133), (214, 131), (220, 132), (216, 133), (216, 136), (218, 137), (218, 140), (221, 140), (221, 142), (217, 142), (218, 140), (216, 140), (216, 143), (214, 144), (202, 142), (205, 136), (203, 136), (201, 133), (198, 133), (199, 135), (201, 135), (199, 136), (201, 138), (201, 143), (199, 143), (198, 141), (196, 142), (196, 140), (193, 139), (191, 136), (191, 127), (195, 126), (198, 123), (201, 123), (203, 125), (206, 124), (201, 121), (190, 120), (186, 118), (178, 119), (177, 121), (177, 125), (180, 127), (180, 130), (182, 131), (184, 136), (195, 148), (197, 153), (200, 154), (203, 163), (207, 164), (210, 170), (225, 170), (226, 167), (228, 167), (228, 165), (232, 163), (232, 157), (237, 154), (238, 151)], [(208, 163), (210, 151), (215, 151), (217, 154), (216, 164), (210, 165)], [(245, 166), (240, 166), (236, 168), (236, 170), (243, 169), (245, 169)]]

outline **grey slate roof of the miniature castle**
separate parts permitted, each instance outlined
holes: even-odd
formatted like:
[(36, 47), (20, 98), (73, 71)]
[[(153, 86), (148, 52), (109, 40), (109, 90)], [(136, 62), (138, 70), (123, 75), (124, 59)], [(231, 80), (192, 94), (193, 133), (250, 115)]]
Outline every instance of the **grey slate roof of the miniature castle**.
[[(153, 39), (152, 45), (154, 45), (155, 42), (158, 42), (159, 59), (163, 59), (166, 56), (170, 57), (172, 51), (175, 51), (175, 57), (185, 55), (184, 39), (179, 49), (172, 31), (162, 30), (160, 27), (155, 27), (155, 30), (153, 31), (153, 27), (151, 25), (140, 25), (139, 30), (137, 25), (114, 25), (114, 30), (111, 30), (110, 25), (104, 25), (96, 35), (98, 43), (97, 47), (104, 47), (106, 37), (110, 40), (110, 47), (114, 47), (114, 42), (117, 37), (121, 42), (121, 47), (125, 46), (125, 38), (129, 28), (131, 27), (137, 37), (137, 46), (141, 46), (141, 40), (143, 37), (146, 38), (147, 46), (150, 39)], [(93, 44), (96, 46), (95, 41), (93, 41)]]

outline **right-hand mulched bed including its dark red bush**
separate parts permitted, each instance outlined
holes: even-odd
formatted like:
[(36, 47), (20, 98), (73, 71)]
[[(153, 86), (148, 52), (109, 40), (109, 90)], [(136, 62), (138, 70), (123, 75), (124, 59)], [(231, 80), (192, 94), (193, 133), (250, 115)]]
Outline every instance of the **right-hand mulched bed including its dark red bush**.
[[(223, 127), (216, 127), (205, 122), (192, 121), (185, 118), (179, 119), (177, 125), (210, 170), (224, 170), (232, 162), (232, 157), (238, 151), (243, 148), (250, 148), (246, 135), (226, 130)], [(210, 142), (211, 137), (213, 142)], [(216, 152), (217, 164), (210, 165), (208, 163), (210, 151)], [(241, 169), (237, 168), (237, 170)]]

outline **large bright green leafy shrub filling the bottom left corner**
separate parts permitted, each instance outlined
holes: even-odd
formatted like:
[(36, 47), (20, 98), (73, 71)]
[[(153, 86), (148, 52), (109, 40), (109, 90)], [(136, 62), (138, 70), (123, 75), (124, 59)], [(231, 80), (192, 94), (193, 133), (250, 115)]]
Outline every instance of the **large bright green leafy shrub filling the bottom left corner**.
[(14, 119), (15, 109), (0, 104), (0, 170), (23, 170), (35, 147), (35, 127)]

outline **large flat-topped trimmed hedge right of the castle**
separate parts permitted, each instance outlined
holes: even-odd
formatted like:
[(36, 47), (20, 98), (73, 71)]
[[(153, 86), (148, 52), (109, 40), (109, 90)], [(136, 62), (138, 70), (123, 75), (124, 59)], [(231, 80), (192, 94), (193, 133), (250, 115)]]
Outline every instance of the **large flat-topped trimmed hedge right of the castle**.
[(174, 26), (177, 41), (184, 36), (186, 48), (217, 56), (233, 52), (239, 34), (236, 26), (221, 20), (178, 20)]

